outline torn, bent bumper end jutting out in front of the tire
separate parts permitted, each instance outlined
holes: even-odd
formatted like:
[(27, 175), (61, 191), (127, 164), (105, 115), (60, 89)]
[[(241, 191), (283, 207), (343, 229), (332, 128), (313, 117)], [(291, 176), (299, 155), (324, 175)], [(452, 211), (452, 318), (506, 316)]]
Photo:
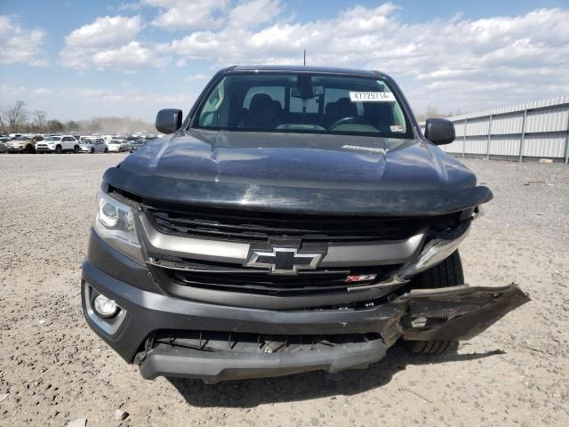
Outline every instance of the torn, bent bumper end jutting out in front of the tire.
[(409, 341), (461, 341), (484, 332), (489, 326), (530, 298), (517, 285), (453, 286), (415, 289), (398, 297), (402, 337)]

